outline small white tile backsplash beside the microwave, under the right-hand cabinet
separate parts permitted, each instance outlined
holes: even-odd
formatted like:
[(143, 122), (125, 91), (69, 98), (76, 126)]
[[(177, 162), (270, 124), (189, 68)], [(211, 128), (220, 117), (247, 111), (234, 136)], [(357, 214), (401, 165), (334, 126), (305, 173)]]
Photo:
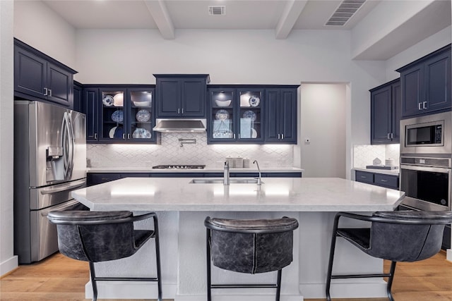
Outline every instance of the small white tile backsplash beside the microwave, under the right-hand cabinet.
[(353, 167), (364, 168), (372, 165), (375, 158), (384, 164), (386, 159), (394, 159), (394, 164), (399, 166), (400, 145), (354, 145)]

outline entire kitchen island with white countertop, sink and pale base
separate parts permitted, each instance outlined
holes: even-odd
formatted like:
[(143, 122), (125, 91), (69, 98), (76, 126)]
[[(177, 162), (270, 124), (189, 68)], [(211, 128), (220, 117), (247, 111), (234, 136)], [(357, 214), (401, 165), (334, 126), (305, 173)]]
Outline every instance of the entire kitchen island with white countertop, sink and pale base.
[[(206, 180), (206, 178), (203, 178)], [(217, 179), (218, 180), (218, 179)], [(123, 178), (83, 188), (73, 197), (95, 211), (156, 211), (160, 223), (163, 297), (176, 301), (206, 299), (206, 216), (251, 219), (290, 216), (298, 219), (294, 232), (294, 261), (283, 269), (282, 300), (322, 298), (328, 252), (337, 211), (392, 211), (404, 192), (340, 178), (263, 178), (254, 183), (190, 183), (189, 178)], [(206, 181), (204, 181), (206, 182)], [(352, 223), (347, 226), (353, 226)], [(149, 228), (149, 224), (137, 224)], [(149, 276), (153, 242), (132, 257), (97, 263), (99, 276)], [(334, 271), (381, 272), (381, 259), (369, 257), (338, 241)], [(337, 262), (337, 264), (336, 264)], [(213, 269), (213, 283), (269, 282), (275, 273), (250, 275)], [(154, 283), (102, 283), (101, 298), (152, 298)], [(333, 297), (384, 297), (381, 278), (333, 282)], [(215, 290), (216, 300), (274, 300), (273, 289)], [(86, 295), (92, 294), (90, 283)], [(220, 296), (221, 295), (221, 296)], [(230, 297), (228, 298), (227, 295)]]

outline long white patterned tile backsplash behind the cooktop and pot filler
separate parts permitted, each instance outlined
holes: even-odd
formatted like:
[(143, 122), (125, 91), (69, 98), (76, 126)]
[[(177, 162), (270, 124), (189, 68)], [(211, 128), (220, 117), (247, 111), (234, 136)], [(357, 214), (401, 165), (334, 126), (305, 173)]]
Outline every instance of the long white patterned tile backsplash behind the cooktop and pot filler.
[[(179, 138), (196, 144), (179, 145)], [(222, 167), (227, 156), (257, 159), (263, 167), (292, 167), (292, 145), (208, 145), (206, 134), (165, 133), (161, 145), (90, 145), (88, 167), (152, 167), (160, 164), (205, 164)]]

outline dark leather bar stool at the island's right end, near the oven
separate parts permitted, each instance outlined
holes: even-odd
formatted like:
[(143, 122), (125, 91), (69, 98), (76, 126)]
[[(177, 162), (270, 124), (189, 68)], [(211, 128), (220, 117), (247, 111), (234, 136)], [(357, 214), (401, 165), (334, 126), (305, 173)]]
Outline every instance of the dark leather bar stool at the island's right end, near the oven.
[[(370, 221), (370, 228), (338, 228), (339, 219)], [(427, 259), (441, 249), (444, 226), (452, 222), (451, 211), (388, 211), (372, 216), (339, 212), (334, 219), (331, 238), (326, 299), (331, 300), (331, 279), (388, 277), (387, 293), (393, 301), (391, 286), (397, 262), (417, 262)], [(388, 274), (332, 275), (333, 257), (337, 237), (358, 247), (372, 257), (391, 260)]]

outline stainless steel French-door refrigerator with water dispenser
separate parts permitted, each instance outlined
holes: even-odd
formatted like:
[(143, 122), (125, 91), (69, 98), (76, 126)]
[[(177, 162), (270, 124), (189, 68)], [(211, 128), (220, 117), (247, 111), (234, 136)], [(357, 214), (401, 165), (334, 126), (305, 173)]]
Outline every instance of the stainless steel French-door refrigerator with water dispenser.
[(86, 185), (85, 115), (43, 102), (14, 102), (14, 252), (20, 264), (57, 252), (53, 210), (81, 206)]

